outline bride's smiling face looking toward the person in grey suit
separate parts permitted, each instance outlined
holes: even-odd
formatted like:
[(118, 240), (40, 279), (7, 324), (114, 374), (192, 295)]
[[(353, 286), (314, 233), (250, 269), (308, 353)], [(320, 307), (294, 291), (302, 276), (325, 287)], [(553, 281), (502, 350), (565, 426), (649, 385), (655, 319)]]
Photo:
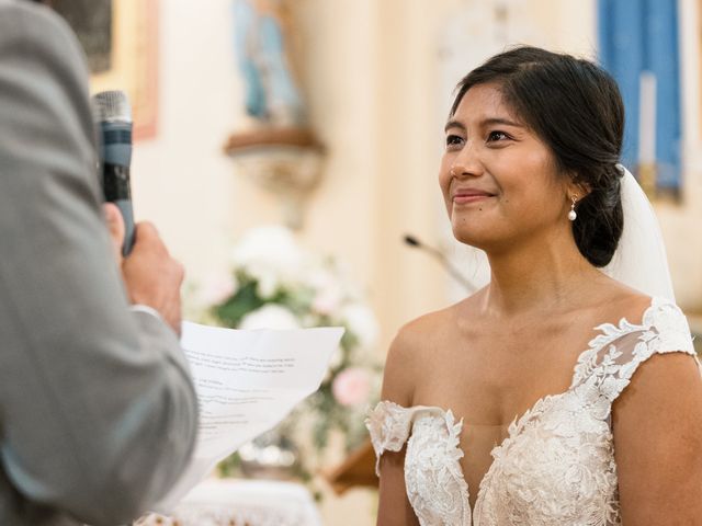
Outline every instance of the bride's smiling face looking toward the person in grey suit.
[(565, 180), (499, 87), (478, 84), (466, 92), (446, 124), (439, 173), (458, 241), (489, 252), (563, 228), (569, 210)]

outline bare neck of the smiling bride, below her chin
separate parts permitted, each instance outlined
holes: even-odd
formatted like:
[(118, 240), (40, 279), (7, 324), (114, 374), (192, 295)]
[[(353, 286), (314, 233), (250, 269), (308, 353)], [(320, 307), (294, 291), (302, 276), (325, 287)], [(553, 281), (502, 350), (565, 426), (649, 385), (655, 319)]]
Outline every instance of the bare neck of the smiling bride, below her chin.
[(491, 276), (483, 307), (500, 316), (571, 307), (603, 278), (573, 243), (512, 248), (488, 259)]

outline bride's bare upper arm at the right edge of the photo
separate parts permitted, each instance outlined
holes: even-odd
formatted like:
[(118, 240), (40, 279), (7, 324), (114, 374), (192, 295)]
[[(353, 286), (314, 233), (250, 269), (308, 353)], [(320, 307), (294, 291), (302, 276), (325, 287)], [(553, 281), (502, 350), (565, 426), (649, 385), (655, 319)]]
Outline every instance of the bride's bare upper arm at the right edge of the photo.
[(654, 355), (613, 407), (625, 526), (700, 524), (702, 379), (682, 353)]

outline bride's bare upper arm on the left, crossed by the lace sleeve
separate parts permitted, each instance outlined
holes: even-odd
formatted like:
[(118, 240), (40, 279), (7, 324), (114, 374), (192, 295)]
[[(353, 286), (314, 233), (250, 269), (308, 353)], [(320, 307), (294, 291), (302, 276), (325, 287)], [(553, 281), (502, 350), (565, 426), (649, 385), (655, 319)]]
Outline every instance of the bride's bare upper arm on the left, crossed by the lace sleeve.
[[(387, 353), (383, 375), (382, 400), (403, 407), (412, 404), (414, 363), (411, 331), (403, 329)], [(378, 526), (419, 525), (405, 490), (405, 448), (399, 453), (385, 451), (381, 457), (381, 487), (377, 514)]]

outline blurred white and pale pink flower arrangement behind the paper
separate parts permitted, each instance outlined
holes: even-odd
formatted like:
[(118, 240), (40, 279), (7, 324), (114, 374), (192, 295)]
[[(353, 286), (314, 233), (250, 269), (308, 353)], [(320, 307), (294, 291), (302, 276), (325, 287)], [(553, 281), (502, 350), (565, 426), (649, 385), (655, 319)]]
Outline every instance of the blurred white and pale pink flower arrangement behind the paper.
[[(234, 329), (346, 328), (321, 387), (282, 424), (293, 442), (312, 431), (314, 454), (304, 455), (298, 468), (308, 478), (333, 432), (341, 432), (347, 450), (366, 436), (363, 412), (377, 398), (381, 378), (373, 359), (377, 321), (341, 265), (304, 250), (283, 227), (250, 230), (231, 256), (231, 274), (206, 290), (214, 322)], [(230, 472), (236, 462), (225, 461), (220, 471)]]

